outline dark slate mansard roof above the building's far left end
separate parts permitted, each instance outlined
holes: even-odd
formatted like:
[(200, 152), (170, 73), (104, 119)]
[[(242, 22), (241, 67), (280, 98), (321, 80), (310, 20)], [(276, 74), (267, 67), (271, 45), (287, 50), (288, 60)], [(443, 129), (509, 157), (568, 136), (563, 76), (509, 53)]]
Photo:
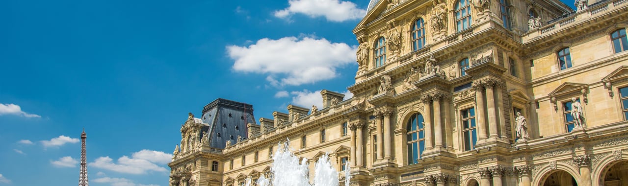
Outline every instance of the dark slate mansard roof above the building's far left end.
[(214, 148), (225, 148), (227, 140), (231, 140), (231, 144), (236, 144), (238, 135), (243, 140), (248, 138), (246, 124), (257, 124), (252, 105), (222, 98), (205, 105), (201, 119), (204, 123), (209, 123), (207, 128), (210, 133), (209, 145)]

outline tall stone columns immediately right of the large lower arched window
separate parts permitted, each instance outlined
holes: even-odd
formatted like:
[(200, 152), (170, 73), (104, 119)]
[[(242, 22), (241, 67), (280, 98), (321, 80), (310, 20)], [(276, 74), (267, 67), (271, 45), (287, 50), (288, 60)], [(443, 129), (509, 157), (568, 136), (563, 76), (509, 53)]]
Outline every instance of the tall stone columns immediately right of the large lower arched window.
[[(442, 101), (441, 101), (442, 100)], [(423, 108), (425, 108), (425, 115), (423, 119), (425, 120), (425, 149), (431, 150), (434, 147), (437, 149), (445, 147), (444, 140), (447, 135), (443, 133), (443, 125), (445, 125), (445, 130), (450, 130), (450, 126), (447, 125), (448, 115), (449, 115), (449, 100), (450, 96), (444, 93), (431, 93), (429, 95), (421, 96), (421, 101), (423, 101)], [(441, 111), (441, 106), (444, 111)], [(433, 110), (432, 110), (433, 107)], [(434, 118), (432, 122), (431, 118)], [(441, 120), (441, 116), (445, 115)], [(432, 131), (432, 123), (434, 123), (433, 131)], [(434, 143), (432, 143), (431, 134), (434, 133)]]

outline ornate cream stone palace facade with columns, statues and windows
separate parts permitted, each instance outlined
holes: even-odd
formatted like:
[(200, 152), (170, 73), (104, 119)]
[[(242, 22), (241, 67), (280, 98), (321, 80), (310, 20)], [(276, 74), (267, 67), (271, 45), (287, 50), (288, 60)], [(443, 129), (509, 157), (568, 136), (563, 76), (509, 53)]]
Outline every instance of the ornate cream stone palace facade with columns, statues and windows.
[(628, 1), (575, 4), (372, 0), (353, 98), (177, 149), (170, 184), (255, 180), (289, 138), (310, 170), (350, 162), (352, 185), (628, 185)]

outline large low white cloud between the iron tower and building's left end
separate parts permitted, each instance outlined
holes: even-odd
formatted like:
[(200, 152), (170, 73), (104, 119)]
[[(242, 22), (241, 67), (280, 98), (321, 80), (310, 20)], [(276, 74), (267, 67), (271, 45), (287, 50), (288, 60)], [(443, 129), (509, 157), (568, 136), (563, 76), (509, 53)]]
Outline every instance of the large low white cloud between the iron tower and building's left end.
[(114, 162), (109, 157), (99, 157), (89, 163), (92, 167), (104, 168), (120, 173), (144, 174), (147, 172), (168, 172), (166, 168), (158, 164), (166, 164), (171, 161), (172, 154), (152, 150), (141, 150), (133, 153), (132, 157), (122, 156)]

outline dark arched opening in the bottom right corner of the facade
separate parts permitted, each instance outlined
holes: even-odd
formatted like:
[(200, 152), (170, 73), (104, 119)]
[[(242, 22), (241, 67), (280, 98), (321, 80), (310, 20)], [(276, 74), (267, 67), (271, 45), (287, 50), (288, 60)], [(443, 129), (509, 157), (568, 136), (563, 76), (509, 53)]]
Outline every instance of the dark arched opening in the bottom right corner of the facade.
[(604, 186), (628, 186), (628, 161), (607, 165), (602, 170), (598, 183)]

